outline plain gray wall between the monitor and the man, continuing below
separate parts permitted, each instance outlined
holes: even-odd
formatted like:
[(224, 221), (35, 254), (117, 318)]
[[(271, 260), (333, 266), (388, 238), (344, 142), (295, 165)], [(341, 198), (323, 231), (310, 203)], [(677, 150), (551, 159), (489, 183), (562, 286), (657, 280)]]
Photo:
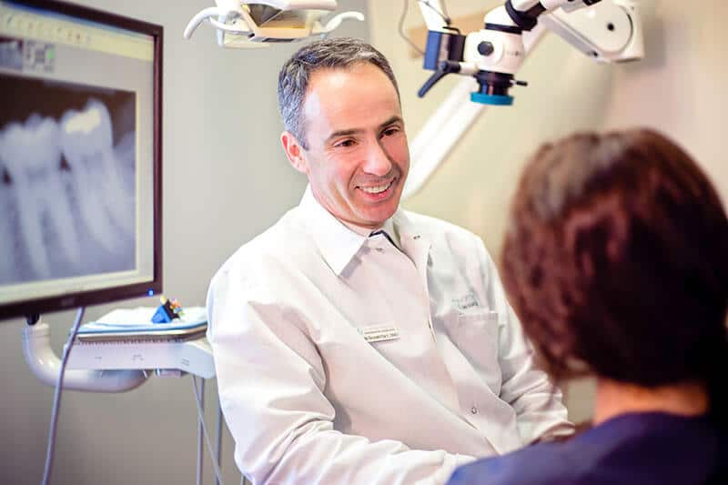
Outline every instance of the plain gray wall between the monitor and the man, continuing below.
[[(212, 0), (83, 0), (120, 15), (164, 25), (164, 287), (183, 305), (204, 305), (207, 283), (241, 244), (293, 207), (305, 178), (279, 147), (278, 68), (300, 46), (261, 50), (217, 47), (201, 25), (190, 40), (182, 31)], [(361, 0), (339, 0), (341, 10), (365, 10)], [(338, 35), (368, 38), (362, 23)], [(86, 321), (113, 308), (155, 305), (154, 298), (86, 310)], [(61, 352), (73, 312), (45, 315)], [(53, 389), (41, 384), (21, 353), (21, 319), (0, 322), (0, 482), (38, 483)], [(207, 383), (207, 422), (214, 432), (217, 389)], [(53, 483), (194, 483), (197, 411), (189, 377), (151, 378), (122, 394), (66, 391), (63, 395)], [(226, 483), (239, 483), (232, 441), (223, 441)], [(209, 461), (206, 483), (212, 483)]]

